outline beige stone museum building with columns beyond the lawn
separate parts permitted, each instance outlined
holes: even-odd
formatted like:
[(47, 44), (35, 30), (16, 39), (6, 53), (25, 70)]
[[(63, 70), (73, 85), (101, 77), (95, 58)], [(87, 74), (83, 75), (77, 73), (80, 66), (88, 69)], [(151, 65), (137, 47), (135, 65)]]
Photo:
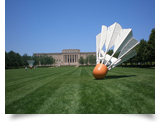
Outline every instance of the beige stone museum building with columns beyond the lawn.
[(79, 65), (79, 58), (87, 55), (96, 55), (96, 52), (80, 52), (79, 49), (64, 49), (61, 53), (33, 53), (33, 56), (52, 56), (55, 59), (53, 65)]

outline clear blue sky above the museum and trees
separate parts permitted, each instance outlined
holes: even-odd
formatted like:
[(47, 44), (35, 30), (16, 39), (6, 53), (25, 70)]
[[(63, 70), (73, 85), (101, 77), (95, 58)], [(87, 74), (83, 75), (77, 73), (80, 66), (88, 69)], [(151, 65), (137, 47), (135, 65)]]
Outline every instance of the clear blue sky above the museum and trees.
[(155, 27), (154, 0), (6, 0), (5, 51), (96, 51), (101, 26), (118, 22), (138, 41)]

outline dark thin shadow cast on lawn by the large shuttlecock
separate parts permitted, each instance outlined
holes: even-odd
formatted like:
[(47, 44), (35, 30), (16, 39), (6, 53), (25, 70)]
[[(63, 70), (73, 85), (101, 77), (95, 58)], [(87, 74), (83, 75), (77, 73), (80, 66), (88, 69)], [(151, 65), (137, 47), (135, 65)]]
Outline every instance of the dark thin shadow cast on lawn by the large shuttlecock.
[(117, 78), (125, 78), (125, 77), (134, 77), (136, 75), (109, 75), (105, 76), (103, 79), (94, 79), (94, 80), (106, 80), (106, 79), (117, 79)]

